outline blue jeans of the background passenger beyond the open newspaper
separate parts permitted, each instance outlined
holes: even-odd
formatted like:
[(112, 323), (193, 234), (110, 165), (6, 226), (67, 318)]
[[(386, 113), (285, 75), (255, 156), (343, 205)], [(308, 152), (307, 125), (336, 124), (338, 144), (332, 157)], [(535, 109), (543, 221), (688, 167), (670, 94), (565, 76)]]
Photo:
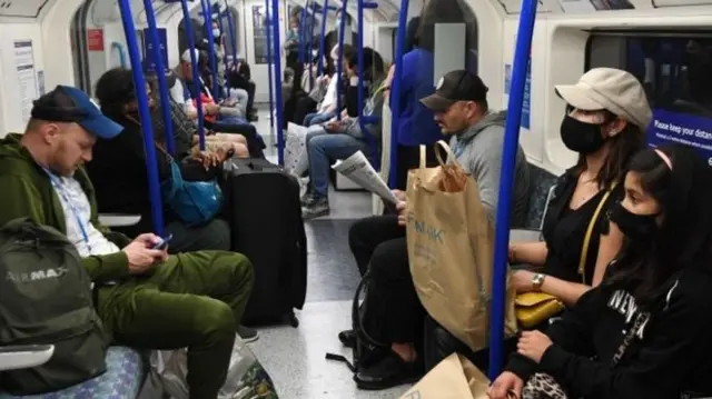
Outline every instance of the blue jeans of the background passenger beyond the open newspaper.
[(359, 150), (368, 156), (368, 144), (365, 141), (344, 133), (315, 134), (308, 138), (309, 183), (314, 194), (328, 196), (332, 160), (346, 159)]

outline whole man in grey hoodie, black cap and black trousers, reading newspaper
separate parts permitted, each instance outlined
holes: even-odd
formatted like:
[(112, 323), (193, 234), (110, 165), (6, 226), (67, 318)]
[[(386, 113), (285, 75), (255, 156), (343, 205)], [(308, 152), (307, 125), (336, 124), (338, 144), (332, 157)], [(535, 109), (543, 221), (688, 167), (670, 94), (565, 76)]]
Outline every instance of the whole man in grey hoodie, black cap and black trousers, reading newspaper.
[[(437, 84), (434, 94), (422, 102), (435, 113), (457, 161), (477, 182), (483, 206), (494, 222), (500, 193), (505, 112), (492, 111), (487, 104), (487, 87), (472, 72), (452, 71)], [(524, 225), (528, 201), (530, 177), (526, 159), (517, 148), (512, 226)], [(357, 221), (349, 231), (349, 246), (362, 275), (368, 271), (364, 327), (379, 342), (389, 342), (392, 351), (374, 366), (359, 370), (355, 380), (359, 388), (386, 389), (416, 380), (423, 372), (422, 332), (425, 309), (418, 300), (405, 238), (407, 203), (405, 193), (399, 216), (370, 217)], [(353, 331), (339, 333), (353, 347)]]

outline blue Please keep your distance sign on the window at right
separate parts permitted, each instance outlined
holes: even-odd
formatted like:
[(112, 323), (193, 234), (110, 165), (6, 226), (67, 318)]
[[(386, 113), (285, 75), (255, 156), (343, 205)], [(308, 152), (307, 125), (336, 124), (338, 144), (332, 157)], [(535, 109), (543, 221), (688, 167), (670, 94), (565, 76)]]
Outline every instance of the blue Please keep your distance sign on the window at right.
[(690, 146), (712, 166), (712, 119), (654, 109), (647, 143), (651, 147), (668, 143)]

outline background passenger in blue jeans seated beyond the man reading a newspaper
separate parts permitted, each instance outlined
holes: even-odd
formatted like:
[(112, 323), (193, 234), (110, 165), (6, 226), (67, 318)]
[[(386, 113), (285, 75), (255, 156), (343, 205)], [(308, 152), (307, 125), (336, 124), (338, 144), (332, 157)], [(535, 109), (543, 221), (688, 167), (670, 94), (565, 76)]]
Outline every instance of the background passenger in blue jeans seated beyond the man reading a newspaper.
[[(329, 212), (329, 170), (333, 161), (346, 159), (357, 151), (362, 151), (367, 158), (380, 157), (378, 149), (380, 148), (382, 136), (380, 113), (384, 103), (385, 71), (380, 56), (372, 49), (368, 50), (370, 50), (372, 59), (367, 67), (368, 73), (364, 73), (364, 78), (368, 79), (372, 86), (377, 87), (377, 90), (367, 99), (364, 107), (364, 117), (374, 117), (377, 118), (377, 121), (366, 123), (367, 131), (365, 132), (362, 131), (358, 117), (345, 117), (342, 120), (332, 120), (324, 126), (309, 128), (310, 131), (307, 133), (306, 139), (309, 186), (301, 201), (301, 215), (305, 219), (316, 218)], [(355, 97), (355, 107), (358, 108), (356, 54), (353, 54), (348, 62), (347, 77), (350, 80), (350, 86), (356, 88), (350, 90), (350, 93)]]

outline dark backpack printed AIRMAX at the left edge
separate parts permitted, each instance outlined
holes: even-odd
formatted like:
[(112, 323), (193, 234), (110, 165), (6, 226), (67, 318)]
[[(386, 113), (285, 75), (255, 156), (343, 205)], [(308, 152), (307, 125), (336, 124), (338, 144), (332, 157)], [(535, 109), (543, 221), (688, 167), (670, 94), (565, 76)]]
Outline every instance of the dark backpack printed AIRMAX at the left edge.
[(75, 246), (30, 219), (0, 228), (0, 346), (53, 345), (41, 366), (0, 372), (11, 395), (63, 389), (106, 371), (109, 342)]

